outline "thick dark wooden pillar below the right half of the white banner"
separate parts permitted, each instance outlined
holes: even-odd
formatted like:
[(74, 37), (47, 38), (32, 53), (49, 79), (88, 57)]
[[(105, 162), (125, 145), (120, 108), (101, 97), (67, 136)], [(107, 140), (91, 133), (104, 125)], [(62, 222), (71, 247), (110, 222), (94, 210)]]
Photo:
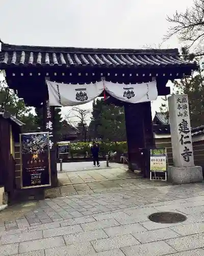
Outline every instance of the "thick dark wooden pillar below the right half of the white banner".
[(129, 169), (133, 170), (134, 164), (142, 170), (143, 176), (147, 177), (148, 152), (154, 146), (150, 102), (124, 104), (124, 113)]

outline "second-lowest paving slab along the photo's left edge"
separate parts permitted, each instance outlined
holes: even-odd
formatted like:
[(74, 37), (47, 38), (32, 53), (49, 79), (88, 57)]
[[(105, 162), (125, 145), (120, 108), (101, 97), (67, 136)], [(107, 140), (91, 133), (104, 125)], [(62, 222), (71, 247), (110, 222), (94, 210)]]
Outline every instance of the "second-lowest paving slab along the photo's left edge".
[(24, 241), (31, 241), (36, 239), (42, 239), (42, 231), (23, 232), (19, 234), (3, 235), (0, 240), (0, 244), (13, 244)]

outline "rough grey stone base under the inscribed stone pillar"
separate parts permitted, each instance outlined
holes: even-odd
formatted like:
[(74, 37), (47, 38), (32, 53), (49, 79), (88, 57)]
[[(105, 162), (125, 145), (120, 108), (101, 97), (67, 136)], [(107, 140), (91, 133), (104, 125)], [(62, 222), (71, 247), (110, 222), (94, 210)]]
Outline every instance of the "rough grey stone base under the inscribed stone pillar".
[(168, 166), (168, 181), (173, 184), (202, 182), (202, 167), (175, 167)]

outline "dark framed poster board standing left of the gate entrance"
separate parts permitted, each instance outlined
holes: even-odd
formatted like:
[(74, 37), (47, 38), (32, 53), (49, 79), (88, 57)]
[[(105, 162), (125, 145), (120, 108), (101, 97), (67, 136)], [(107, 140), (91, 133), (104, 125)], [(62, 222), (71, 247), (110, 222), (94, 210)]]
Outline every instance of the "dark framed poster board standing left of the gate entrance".
[(51, 185), (49, 133), (20, 134), (21, 188)]

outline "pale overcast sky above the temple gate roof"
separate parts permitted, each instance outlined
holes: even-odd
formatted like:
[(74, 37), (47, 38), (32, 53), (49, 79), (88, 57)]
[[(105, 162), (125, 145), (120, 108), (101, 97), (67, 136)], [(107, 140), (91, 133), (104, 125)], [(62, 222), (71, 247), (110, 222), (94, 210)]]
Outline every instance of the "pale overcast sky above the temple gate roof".
[[(158, 47), (166, 16), (193, 0), (0, 0), (0, 37), (8, 44), (92, 48)], [(177, 38), (162, 48), (181, 48)], [(161, 99), (152, 104), (152, 115)], [(92, 103), (83, 105), (91, 108)], [(65, 114), (68, 107), (63, 108)]]

